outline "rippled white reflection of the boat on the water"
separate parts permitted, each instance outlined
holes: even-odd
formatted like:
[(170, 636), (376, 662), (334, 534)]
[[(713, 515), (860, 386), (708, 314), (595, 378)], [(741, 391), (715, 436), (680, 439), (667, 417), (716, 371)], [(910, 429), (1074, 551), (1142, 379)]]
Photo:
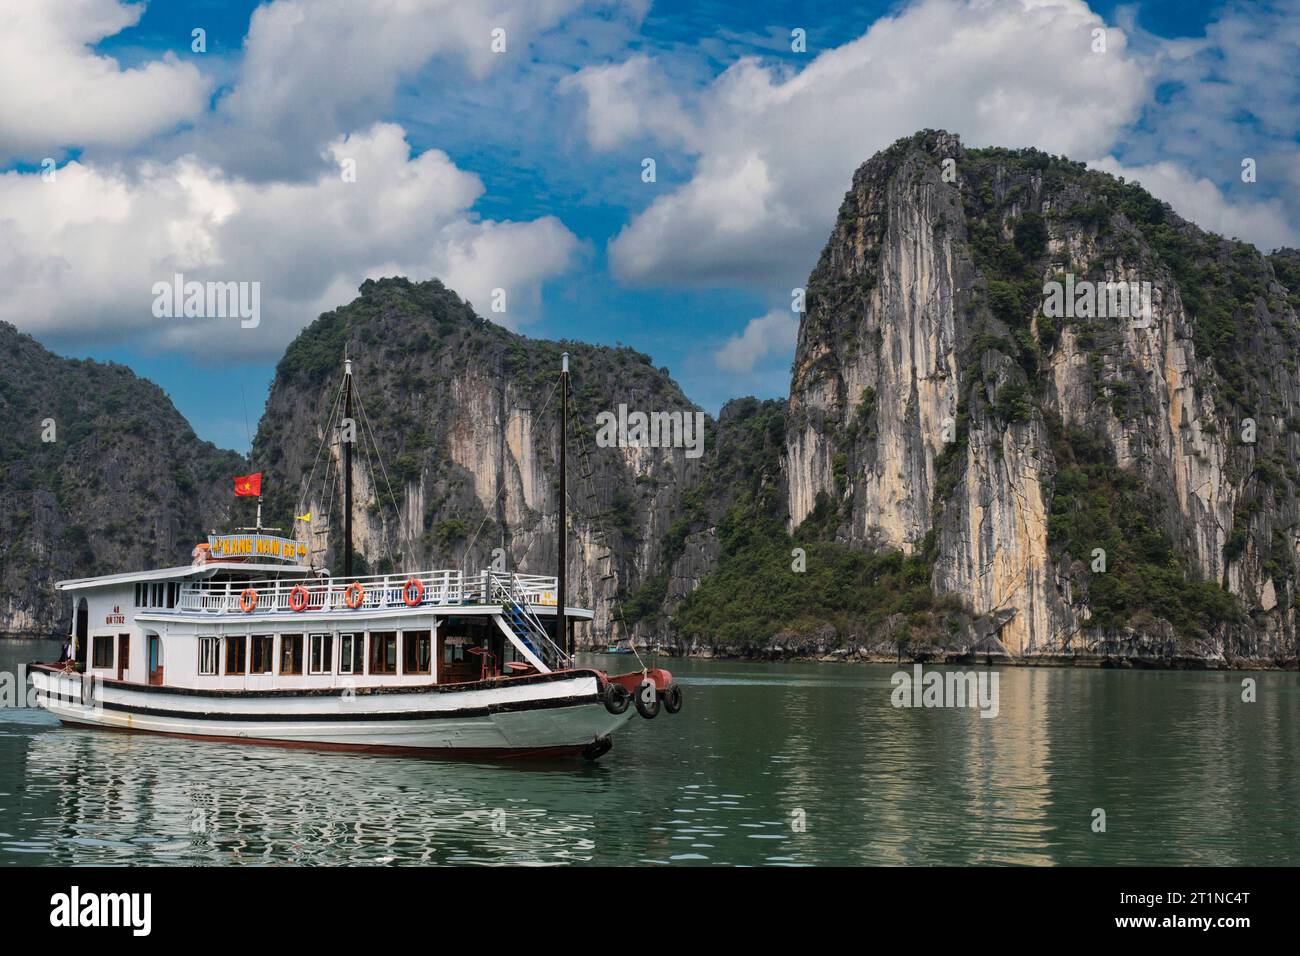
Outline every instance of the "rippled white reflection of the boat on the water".
[[(619, 812), (602, 783), (610, 773), (64, 728), (30, 740), (23, 801), (40, 819), (6, 849), (57, 865), (586, 862), (598, 856), (595, 819)], [(526, 787), (502, 786), (502, 774), (525, 775)], [(575, 775), (589, 778), (581, 812), (547, 808), (549, 796), (564, 803)]]

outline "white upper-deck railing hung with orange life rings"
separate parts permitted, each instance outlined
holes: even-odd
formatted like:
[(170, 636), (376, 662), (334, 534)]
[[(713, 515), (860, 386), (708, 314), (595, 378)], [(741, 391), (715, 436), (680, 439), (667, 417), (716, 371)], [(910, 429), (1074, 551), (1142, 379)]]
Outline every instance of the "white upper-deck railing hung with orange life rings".
[[(490, 589), (491, 572), (464, 575), (456, 570), (415, 574), (369, 575), (365, 578), (272, 578), (256, 581), (196, 581), (181, 588), (177, 610), (199, 614), (294, 614), (294, 605), (307, 611), (373, 611), (402, 607), (442, 607), (448, 605), (495, 605), (499, 594)], [(497, 574), (497, 580), (503, 575)], [(558, 581), (546, 575), (512, 575), (515, 600), (525, 605), (555, 605)], [(419, 581), (420, 588), (410, 581)], [(359, 584), (360, 589), (354, 585)], [(304, 588), (306, 596), (295, 594)], [(256, 605), (244, 611), (256, 593)], [(421, 593), (422, 592), (422, 593)], [(419, 597), (416, 601), (415, 598)]]

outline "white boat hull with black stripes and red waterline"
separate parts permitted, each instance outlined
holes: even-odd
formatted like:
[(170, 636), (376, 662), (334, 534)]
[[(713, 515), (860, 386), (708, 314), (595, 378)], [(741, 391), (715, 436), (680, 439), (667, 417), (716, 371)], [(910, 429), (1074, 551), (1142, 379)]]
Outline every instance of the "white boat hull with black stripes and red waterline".
[[(195, 692), (34, 670), (69, 724), (228, 743), (428, 756), (598, 756), (636, 713), (610, 713), (593, 671), (426, 688)], [(88, 688), (88, 689), (87, 689)], [(84, 698), (84, 700), (83, 700)], [(594, 749), (592, 749), (594, 748)]]

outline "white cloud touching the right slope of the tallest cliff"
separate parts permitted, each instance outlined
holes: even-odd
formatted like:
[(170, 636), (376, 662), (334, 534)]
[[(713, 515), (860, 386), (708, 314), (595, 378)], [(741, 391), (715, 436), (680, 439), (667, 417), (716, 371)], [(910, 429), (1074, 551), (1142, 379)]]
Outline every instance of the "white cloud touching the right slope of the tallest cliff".
[(1221, 235), (1249, 238), (1265, 251), (1279, 246), (1300, 246), (1300, 230), (1292, 225), (1279, 199), (1257, 203), (1230, 203), (1223, 191), (1204, 177), (1196, 177), (1176, 163), (1124, 166), (1113, 156), (1091, 163), (1112, 176), (1139, 182), (1157, 199), (1174, 207), (1183, 219)]

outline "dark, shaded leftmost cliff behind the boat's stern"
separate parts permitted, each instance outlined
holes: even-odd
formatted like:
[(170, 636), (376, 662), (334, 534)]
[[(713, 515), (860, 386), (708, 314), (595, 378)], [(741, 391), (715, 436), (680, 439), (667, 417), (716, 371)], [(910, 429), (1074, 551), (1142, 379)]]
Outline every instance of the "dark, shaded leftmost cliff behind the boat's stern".
[(246, 463), (152, 382), (0, 323), (0, 632), (62, 632), (55, 581), (190, 563)]

